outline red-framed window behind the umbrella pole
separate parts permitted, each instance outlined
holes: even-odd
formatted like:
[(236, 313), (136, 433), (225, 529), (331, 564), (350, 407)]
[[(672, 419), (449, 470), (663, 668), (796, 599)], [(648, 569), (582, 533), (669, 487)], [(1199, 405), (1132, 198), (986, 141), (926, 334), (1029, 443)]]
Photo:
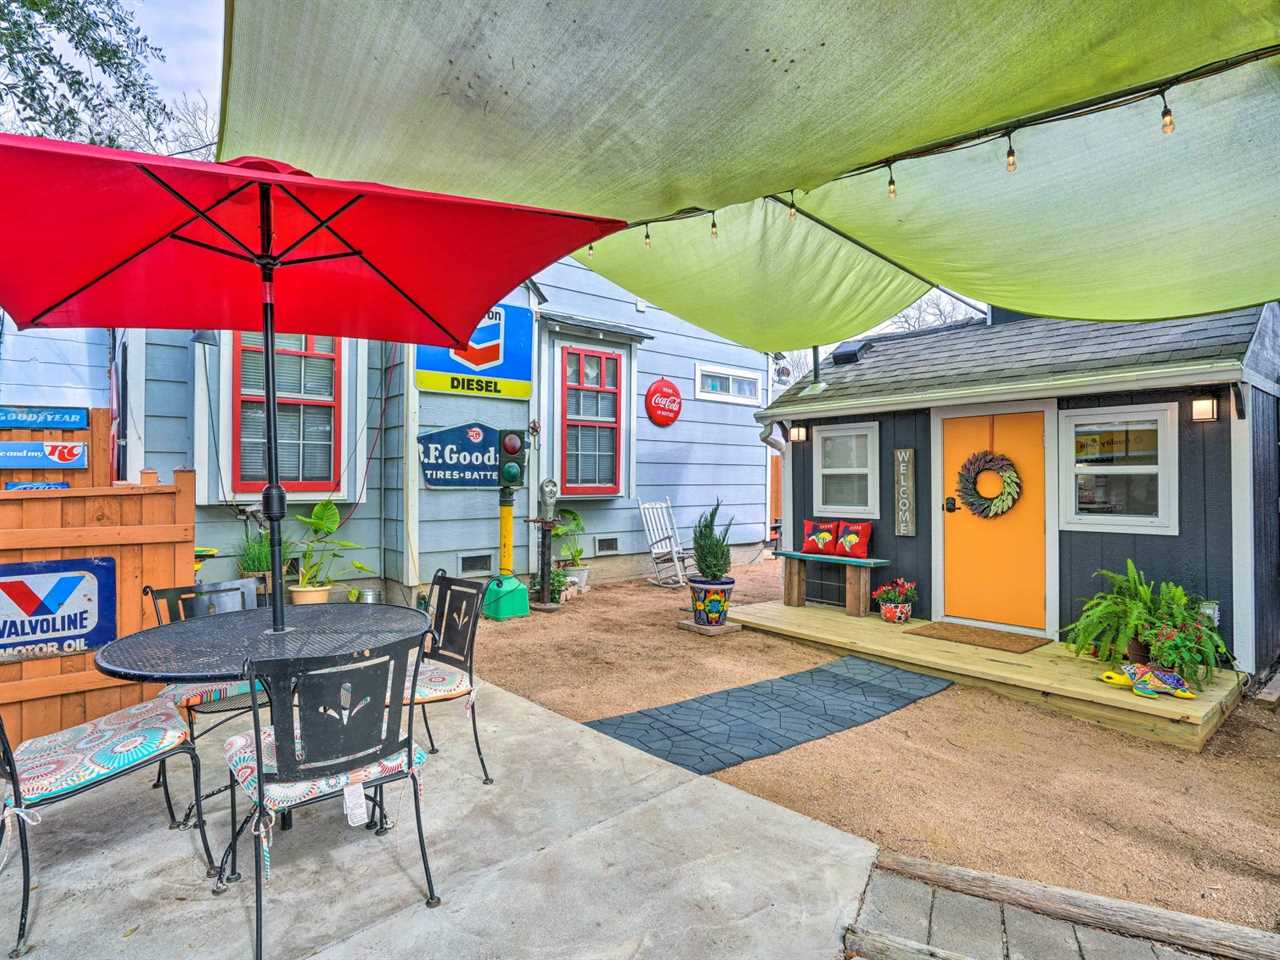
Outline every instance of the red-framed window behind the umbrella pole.
[[(266, 483), (262, 334), (237, 333), (232, 366), (232, 489)], [(280, 485), (298, 493), (338, 486), (342, 462), (342, 340), (276, 334)]]

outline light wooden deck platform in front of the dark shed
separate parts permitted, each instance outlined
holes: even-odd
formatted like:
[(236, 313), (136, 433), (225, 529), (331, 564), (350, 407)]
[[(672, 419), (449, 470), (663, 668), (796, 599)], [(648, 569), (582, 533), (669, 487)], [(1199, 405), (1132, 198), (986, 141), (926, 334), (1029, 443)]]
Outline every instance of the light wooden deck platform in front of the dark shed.
[(1151, 700), (1098, 681), (1101, 667), (1076, 658), (1062, 644), (1030, 653), (988, 650), (968, 644), (911, 636), (911, 626), (878, 617), (849, 617), (842, 608), (781, 600), (733, 607), (730, 618), (744, 627), (836, 646), (859, 657), (982, 686), (1005, 696), (1070, 713), (1125, 733), (1199, 751), (1240, 699), (1240, 677), (1222, 671), (1194, 700)]

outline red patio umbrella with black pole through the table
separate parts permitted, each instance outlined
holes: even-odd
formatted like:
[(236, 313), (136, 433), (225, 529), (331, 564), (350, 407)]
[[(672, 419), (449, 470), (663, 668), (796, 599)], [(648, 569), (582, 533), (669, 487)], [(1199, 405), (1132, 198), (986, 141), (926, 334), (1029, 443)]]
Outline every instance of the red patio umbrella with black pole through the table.
[(20, 328), (262, 332), (271, 609), (284, 628), (276, 333), (468, 342), (503, 294), (625, 224), (0, 134), (0, 307)]

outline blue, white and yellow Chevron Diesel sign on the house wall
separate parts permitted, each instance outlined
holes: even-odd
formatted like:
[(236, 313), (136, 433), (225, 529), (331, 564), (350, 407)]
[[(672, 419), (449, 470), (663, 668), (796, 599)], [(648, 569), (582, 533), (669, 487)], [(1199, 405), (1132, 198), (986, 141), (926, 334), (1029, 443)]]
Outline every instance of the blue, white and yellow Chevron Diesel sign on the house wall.
[(532, 393), (534, 311), (499, 303), (466, 347), (419, 347), (417, 389), (527, 399)]

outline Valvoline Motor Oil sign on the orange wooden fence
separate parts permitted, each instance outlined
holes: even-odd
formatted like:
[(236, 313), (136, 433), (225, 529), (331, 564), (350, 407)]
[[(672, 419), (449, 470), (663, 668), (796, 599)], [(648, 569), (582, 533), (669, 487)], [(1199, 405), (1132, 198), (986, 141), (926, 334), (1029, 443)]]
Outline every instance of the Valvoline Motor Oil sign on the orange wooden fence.
[(115, 561), (0, 564), (0, 662), (69, 657), (115, 639)]

